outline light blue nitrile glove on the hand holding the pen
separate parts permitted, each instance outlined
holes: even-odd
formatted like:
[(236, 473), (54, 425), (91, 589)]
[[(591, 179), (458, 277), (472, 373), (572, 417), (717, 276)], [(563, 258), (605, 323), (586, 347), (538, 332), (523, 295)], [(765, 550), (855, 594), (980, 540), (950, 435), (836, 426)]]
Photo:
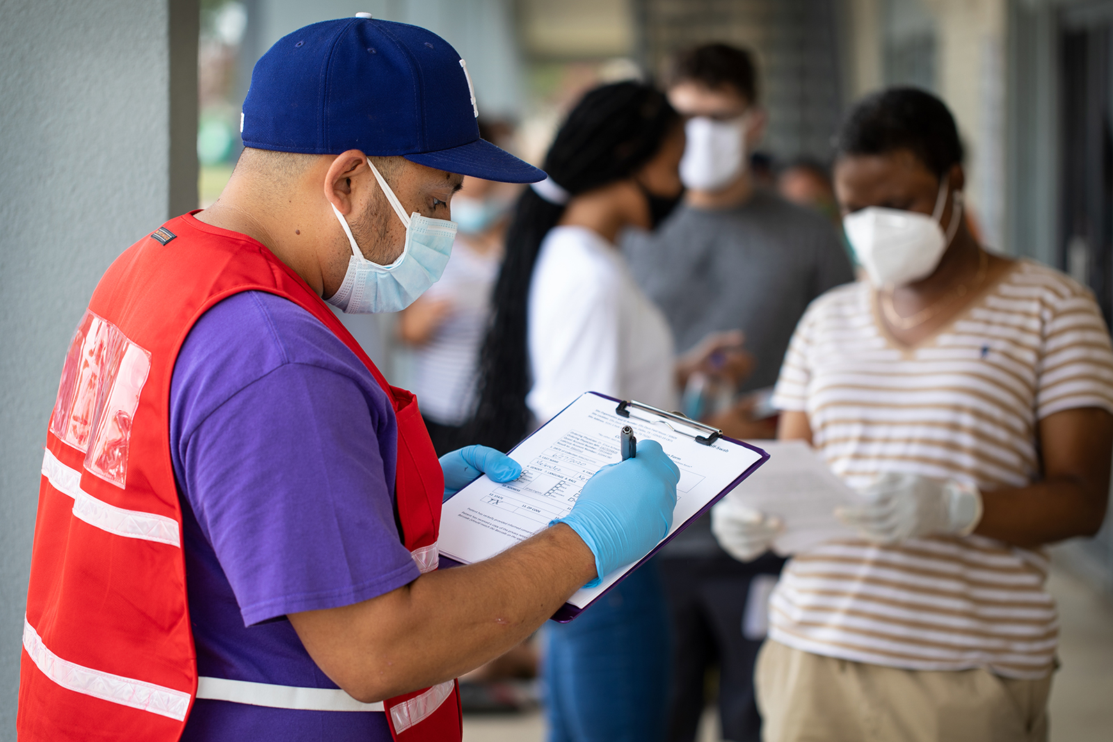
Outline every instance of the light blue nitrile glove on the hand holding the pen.
[(680, 469), (657, 441), (639, 441), (638, 455), (595, 472), (572, 512), (550, 523), (567, 523), (595, 555), (600, 578), (650, 552), (672, 526)]

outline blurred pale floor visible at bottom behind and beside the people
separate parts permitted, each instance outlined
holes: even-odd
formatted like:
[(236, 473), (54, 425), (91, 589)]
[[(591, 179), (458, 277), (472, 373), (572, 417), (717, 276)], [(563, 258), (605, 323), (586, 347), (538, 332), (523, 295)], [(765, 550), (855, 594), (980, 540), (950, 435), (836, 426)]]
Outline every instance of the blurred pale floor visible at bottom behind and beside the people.
[[(1113, 604), (1055, 571), (1048, 588), (1062, 621), (1060, 662), (1051, 696), (1051, 742), (1113, 740)], [(700, 742), (718, 740), (713, 714), (705, 716)], [(541, 742), (540, 713), (467, 716), (464, 742)]]

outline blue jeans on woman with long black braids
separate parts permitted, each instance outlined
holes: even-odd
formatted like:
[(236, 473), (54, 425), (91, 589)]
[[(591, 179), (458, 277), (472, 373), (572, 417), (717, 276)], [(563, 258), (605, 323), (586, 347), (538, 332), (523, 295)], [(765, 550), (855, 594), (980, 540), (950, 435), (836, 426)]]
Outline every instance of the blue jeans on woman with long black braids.
[(546, 631), (549, 742), (664, 739), (670, 635), (656, 561)]

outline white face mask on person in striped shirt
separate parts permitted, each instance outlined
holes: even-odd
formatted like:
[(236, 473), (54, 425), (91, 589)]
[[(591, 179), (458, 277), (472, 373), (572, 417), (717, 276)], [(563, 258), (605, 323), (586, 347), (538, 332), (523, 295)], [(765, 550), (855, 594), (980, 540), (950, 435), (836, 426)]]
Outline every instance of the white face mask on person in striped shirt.
[(846, 238), (874, 286), (904, 286), (935, 273), (958, 231), (963, 214), (963, 194), (955, 191), (955, 207), (944, 235), (939, 219), (948, 186), (949, 179), (939, 184), (932, 216), (869, 206), (843, 217)]

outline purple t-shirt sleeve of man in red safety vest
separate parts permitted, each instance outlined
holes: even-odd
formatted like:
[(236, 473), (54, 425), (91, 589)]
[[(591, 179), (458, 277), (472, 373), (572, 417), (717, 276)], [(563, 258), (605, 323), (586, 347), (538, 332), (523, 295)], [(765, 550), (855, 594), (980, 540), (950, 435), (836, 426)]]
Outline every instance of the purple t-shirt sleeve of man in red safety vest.
[(180, 442), (190, 506), (245, 625), (418, 576), (394, 524), (373, 407), (345, 374), (287, 363)]

